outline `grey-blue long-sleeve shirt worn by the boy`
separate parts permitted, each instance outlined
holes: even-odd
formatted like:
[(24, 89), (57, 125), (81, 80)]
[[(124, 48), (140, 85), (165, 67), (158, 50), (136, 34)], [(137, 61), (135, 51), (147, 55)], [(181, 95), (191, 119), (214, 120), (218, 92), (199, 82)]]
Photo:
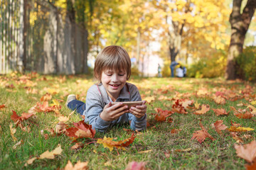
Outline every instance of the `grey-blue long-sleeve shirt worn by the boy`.
[[(134, 84), (126, 83), (124, 88), (120, 91), (118, 101), (142, 101), (142, 97), (139, 94), (137, 86)], [(105, 121), (100, 118), (103, 108), (110, 103), (110, 97), (107, 95), (107, 91), (102, 84), (93, 85), (88, 89), (86, 96), (86, 110), (85, 122), (92, 125), (92, 128), (100, 132), (105, 132), (107, 128), (112, 125), (129, 123), (132, 130), (145, 130), (146, 129), (146, 114), (142, 118), (137, 118), (132, 113), (124, 113), (117, 120)]]

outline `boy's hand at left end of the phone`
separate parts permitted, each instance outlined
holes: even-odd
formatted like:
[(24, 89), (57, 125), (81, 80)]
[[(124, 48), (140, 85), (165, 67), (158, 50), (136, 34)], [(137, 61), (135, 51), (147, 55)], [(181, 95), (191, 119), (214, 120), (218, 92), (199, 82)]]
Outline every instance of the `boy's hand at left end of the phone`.
[(108, 103), (103, 108), (102, 113), (100, 113), (100, 118), (102, 118), (102, 120), (105, 120), (105, 121), (112, 121), (112, 120), (116, 120), (124, 113), (128, 113), (129, 112), (128, 106), (121, 107), (121, 105), (122, 105), (122, 102), (115, 104), (113, 106), (111, 105), (111, 102)]

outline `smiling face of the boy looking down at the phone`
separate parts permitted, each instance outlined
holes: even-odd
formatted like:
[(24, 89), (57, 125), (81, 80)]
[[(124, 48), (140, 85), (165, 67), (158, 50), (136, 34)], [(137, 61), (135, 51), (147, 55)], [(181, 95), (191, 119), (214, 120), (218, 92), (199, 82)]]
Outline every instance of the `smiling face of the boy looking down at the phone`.
[(107, 94), (112, 101), (115, 101), (127, 81), (127, 73), (124, 70), (105, 69), (102, 72), (101, 81)]

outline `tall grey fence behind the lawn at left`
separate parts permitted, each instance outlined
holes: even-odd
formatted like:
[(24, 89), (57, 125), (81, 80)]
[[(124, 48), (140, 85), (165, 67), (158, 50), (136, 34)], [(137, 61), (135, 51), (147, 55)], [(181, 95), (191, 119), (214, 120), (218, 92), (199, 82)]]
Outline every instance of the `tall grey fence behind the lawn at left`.
[(1, 0), (0, 74), (87, 72), (87, 30), (47, 1)]

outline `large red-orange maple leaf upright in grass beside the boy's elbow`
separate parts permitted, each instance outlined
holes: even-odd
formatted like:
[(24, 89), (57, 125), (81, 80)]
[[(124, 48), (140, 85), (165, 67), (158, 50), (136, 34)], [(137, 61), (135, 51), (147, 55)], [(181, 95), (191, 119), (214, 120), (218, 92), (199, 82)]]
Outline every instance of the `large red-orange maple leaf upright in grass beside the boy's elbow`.
[(78, 123), (73, 123), (75, 127), (68, 128), (66, 135), (68, 137), (83, 138), (95, 136), (96, 131), (92, 130), (92, 125), (87, 125), (84, 120), (79, 121)]

